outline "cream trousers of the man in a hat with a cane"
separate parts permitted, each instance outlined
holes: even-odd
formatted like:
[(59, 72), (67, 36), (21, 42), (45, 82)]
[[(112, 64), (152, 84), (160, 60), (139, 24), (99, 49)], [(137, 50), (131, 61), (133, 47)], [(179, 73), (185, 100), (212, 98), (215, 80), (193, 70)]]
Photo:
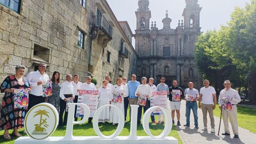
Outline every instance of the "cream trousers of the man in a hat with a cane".
[(230, 110), (222, 110), (223, 123), (225, 127), (225, 132), (229, 132), (228, 126), (228, 118), (232, 126), (232, 130), (234, 134), (238, 134), (238, 123), (237, 123), (237, 107), (233, 105), (233, 111)]

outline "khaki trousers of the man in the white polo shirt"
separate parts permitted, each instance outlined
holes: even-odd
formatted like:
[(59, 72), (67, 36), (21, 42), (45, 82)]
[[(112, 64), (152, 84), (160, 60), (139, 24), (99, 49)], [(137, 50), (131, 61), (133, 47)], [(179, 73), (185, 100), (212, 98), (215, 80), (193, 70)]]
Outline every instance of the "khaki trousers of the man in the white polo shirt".
[(204, 119), (204, 126), (207, 126), (207, 111), (209, 113), (210, 119), (211, 119), (211, 126), (214, 128), (214, 116), (213, 116), (213, 108), (212, 105), (207, 105), (202, 103), (202, 112), (203, 112), (203, 119)]

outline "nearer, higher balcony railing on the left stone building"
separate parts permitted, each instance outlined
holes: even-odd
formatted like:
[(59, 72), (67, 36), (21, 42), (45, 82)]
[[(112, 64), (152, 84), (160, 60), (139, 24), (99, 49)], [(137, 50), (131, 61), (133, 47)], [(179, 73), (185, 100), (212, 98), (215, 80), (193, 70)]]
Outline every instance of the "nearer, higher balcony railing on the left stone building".
[(102, 15), (97, 15), (96, 17), (96, 23), (95, 28), (101, 29), (103, 32), (105, 32), (108, 36), (112, 37), (112, 30), (113, 28), (108, 23), (105, 17)]

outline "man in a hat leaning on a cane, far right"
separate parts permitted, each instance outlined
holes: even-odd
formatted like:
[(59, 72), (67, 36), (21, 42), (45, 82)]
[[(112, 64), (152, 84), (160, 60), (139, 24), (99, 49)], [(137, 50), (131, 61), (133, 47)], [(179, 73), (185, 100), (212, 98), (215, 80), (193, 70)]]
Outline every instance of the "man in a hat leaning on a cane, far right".
[[(234, 138), (239, 138), (236, 105), (241, 101), (241, 98), (238, 92), (231, 88), (231, 83), (229, 80), (224, 81), (223, 85), (225, 86), (225, 89), (221, 90), (219, 95), (219, 106), (220, 109), (222, 109), (223, 123), (225, 127), (225, 133), (222, 133), (222, 135), (230, 135), (228, 127), (229, 118), (233, 133), (235, 135)], [(230, 109), (226, 108), (226, 110), (223, 110), (223, 108), (225, 108), (225, 105), (222, 103), (223, 100), (228, 100), (231, 103)]]

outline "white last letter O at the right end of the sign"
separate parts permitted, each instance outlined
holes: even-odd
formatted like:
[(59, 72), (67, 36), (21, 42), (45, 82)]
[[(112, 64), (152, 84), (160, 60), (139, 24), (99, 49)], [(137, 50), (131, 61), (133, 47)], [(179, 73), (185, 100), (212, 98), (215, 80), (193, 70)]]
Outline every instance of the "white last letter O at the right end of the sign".
[[(165, 116), (165, 126), (164, 126), (164, 130), (160, 135), (154, 136), (149, 129), (149, 117), (151, 115), (151, 113), (157, 109), (160, 108), (163, 112), (164, 112), (164, 116)], [(172, 121), (171, 121), (171, 114), (169, 113), (169, 111), (163, 107), (151, 107), (149, 108), (146, 113), (143, 115), (143, 119), (142, 119), (142, 126), (144, 131), (152, 138), (157, 138), (157, 139), (163, 139), (165, 137), (167, 137), (167, 135), (171, 132), (172, 130)]]

